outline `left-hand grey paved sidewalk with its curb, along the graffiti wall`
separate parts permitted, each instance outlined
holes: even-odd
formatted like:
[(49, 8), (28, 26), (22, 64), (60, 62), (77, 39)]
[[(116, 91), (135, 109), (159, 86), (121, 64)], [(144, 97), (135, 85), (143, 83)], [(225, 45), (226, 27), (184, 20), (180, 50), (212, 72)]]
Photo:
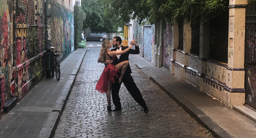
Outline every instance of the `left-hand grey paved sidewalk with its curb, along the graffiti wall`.
[(87, 48), (79, 48), (60, 64), (60, 80), (44, 78), (0, 120), (0, 138), (52, 137)]

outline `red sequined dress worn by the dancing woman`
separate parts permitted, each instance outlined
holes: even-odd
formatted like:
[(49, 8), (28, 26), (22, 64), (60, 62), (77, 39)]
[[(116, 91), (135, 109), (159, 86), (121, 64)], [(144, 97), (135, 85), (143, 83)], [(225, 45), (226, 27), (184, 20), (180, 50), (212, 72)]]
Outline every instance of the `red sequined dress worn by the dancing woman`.
[[(108, 52), (108, 51), (107, 51)], [(111, 57), (108, 53), (110, 60), (115, 60), (116, 56)], [(105, 66), (101, 76), (99, 77), (99, 81), (96, 84), (96, 90), (98, 90), (100, 93), (105, 94), (108, 89), (108, 81), (115, 83), (115, 77), (118, 78), (117, 73), (119, 73), (119, 70), (115, 67), (115, 65), (109, 64), (108, 66)]]

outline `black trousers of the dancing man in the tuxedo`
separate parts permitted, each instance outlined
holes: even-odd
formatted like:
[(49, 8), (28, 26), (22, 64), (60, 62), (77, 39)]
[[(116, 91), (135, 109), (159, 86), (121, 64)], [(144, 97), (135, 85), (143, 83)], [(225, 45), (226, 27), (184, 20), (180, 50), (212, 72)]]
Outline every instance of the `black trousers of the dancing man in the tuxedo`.
[[(120, 85), (117, 83), (118, 79), (116, 79), (115, 84), (112, 83), (111, 94), (112, 100), (116, 108), (121, 108), (120, 98), (119, 98), (119, 90)], [(123, 84), (126, 89), (129, 91), (133, 99), (142, 107), (146, 107), (145, 100), (143, 99), (140, 90), (136, 86), (133, 77), (130, 73), (125, 73), (123, 76)]]

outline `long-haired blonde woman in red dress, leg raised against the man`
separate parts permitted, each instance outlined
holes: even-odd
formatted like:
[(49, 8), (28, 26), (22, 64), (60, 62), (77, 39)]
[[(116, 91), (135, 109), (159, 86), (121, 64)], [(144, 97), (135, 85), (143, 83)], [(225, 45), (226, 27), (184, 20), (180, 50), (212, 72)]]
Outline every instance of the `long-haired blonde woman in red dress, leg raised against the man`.
[[(129, 48), (126, 48), (124, 51), (109, 51), (109, 48), (111, 47), (112, 47), (112, 44), (108, 39), (103, 41), (102, 47), (100, 49), (98, 63), (99, 62), (104, 63), (106, 60), (114, 61), (116, 58), (116, 55), (126, 53), (133, 47), (133, 45), (131, 45)], [(116, 65), (114, 65), (113, 63), (109, 64), (104, 68), (103, 73), (101, 74), (99, 81), (96, 84), (96, 90), (98, 90), (102, 94), (107, 93), (107, 101), (108, 101), (107, 110), (108, 111), (112, 111), (111, 103), (110, 103), (110, 90), (111, 90), (112, 82), (115, 83), (114, 77), (118, 78), (117, 73), (121, 71), (119, 81), (118, 81), (118, 83), (121, 85), (123, 75), (128, 65), (129, 65), (129, 61), (123, 61)]]

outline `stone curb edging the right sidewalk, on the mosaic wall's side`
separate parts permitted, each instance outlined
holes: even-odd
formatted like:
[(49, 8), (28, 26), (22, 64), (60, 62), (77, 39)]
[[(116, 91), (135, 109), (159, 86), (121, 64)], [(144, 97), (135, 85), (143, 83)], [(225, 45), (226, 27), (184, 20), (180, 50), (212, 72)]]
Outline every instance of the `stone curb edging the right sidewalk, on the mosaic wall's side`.
[[(188, 101), (185, 97), (173, 90), (169, 85), (165, 84), (162, 80), (144, 69), (140, 64), (135, 64), (147, 77), (150, 78), (160, 89), (162, 89), (167, 95), (170, 96), (180, 107), (182, 107), (191, 117), (193, 117), (198, 123), (209, 130), (215, 138), (234, 138), (227, 131), (220, 128), (214, 123), (210, 117), (197, 108), (194, 104)], [(147, 72), (146, 72), (147, 71)]]

